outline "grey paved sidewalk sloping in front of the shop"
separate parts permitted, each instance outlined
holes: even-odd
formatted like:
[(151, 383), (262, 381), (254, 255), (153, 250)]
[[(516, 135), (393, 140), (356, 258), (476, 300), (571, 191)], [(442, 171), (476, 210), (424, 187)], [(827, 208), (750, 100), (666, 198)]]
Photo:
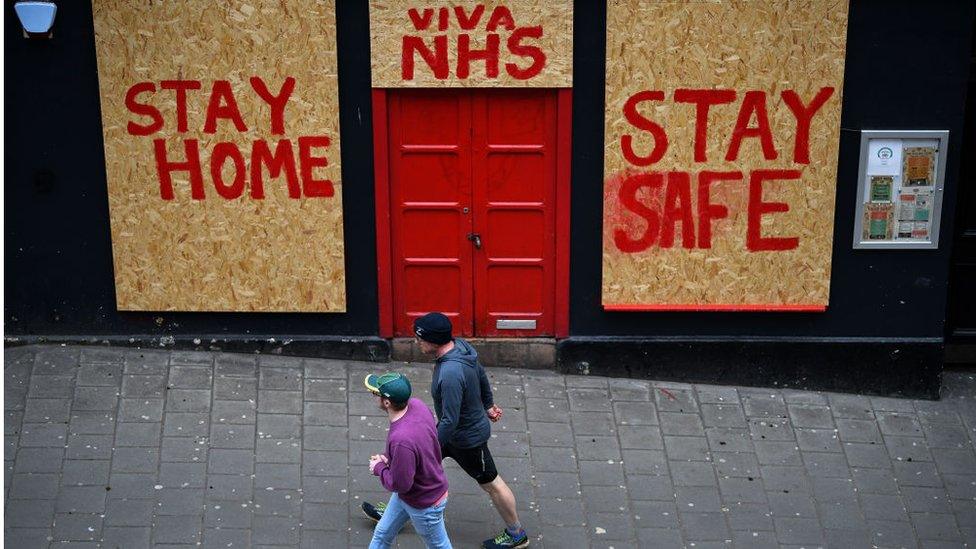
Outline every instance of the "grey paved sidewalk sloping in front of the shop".
[[(362, 388), (429, 364), (104, 347), (4, 350), (8, 547), (365, 547), (387, 419)], [(490, 447), (532, 547), (976, 543), (976, 376), (941, 401), (489, 368)], [(883, 375), (879, 373), (879, 375)], [(455, 547), (501, 528), (450, 460)], [(400, 547), (421, 547), (408, 527)]]

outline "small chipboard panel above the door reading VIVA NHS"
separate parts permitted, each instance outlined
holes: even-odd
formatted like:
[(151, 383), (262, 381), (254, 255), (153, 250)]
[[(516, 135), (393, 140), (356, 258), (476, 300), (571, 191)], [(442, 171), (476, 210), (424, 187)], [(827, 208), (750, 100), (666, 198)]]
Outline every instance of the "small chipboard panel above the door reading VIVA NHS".
[(373, 0), (373, 87), (573, 85), (572, 0)]

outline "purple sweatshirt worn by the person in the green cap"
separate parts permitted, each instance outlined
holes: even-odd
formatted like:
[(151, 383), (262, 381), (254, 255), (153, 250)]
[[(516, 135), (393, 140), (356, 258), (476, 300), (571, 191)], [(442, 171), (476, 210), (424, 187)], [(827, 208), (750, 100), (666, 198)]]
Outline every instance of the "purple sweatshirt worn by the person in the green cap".
[(407, 505), (426, 509), (447, 492), (434, 413), (423, 401), (408, 400), (407, 412), (390, 424), (386, 456), (389, 465), (377, 463), (373, 474), (380, 477), (383, 488), (396, 492)]

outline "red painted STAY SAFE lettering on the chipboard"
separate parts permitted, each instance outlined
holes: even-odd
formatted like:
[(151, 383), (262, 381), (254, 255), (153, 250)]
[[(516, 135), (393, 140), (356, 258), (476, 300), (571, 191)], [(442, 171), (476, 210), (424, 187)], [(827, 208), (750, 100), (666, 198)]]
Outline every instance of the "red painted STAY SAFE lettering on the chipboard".
[[(810, 163), (810, 128), (821, 107), (831, 98), (834, 88), (823, 87), (804, 100), (794, 90), (783, 90), (782, 103), (793, 116), (792, 162), (798, 166)], [(733, 127), (723, 134), (728, 145), (724, 160), (739, 160), (744, 144), (755, 140), (765, 160), (780, 157), (772, 126), (769, 122), (767, 93), (749, 90), (742, 94)], [(696, 164), (708, 162), (709, 112), (737, 101), (739, 94), (728, 89), (677, 89), (671, 99), (675, 104), (694, 108), (694, 157)], [(642, 90), (631, 95), (623, 105), (623, 115), (633, 132), (620, 136), (620, 152), (632, 169), (618, 181), (616, 200), (631, 217), (642, 223), (628, 222), (613, 228), (614, 246), (624, 253), (643, 252), (652, 246), (672, 248), (677, 228), (681, 227), (680, 246), (687, 249), (712, 247), (714, 224), (729, 216), (726, 205), (713, 200), (712, 189), (717, 185), (747, 185), (747, 222), (745, 246), (750, 252), (787, 251), (799, 246), (797, 236), (763, 236), (763, 217), (788, 212), (790, 205), (763, 199), (763, 187), (769, 181), (795, 181), (802, 178), (800, 169), (755, 169), (745, 174), (741, 170), (707, 170), (697, 174), (688, 171), (645, 171), (643, 168), (660, 162), (670, 146), (667, 131), (644, 113), (666, 100), (660, 90)], [(753, 122), (754, 121), (754, 122)], [(642, 143), (638, 146), (638, 141)], [(648, 147), (647, 144), (650, 143)], [(714, 150), (714, 147), (712, 147)], [(636, 171), (635, 171), (636, 170)], [(697, 183), (692, 199), (692, 181)], [(636, 229), (636, 230), (635, 230)]]

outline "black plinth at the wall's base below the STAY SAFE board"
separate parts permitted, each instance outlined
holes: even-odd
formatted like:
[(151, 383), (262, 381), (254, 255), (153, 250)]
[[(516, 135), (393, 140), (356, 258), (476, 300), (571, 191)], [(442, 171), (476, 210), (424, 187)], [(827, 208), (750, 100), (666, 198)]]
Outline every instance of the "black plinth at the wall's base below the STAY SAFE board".
[(916, 339), (571, 337), (565, 374), (938, 399), (945, 347)]

